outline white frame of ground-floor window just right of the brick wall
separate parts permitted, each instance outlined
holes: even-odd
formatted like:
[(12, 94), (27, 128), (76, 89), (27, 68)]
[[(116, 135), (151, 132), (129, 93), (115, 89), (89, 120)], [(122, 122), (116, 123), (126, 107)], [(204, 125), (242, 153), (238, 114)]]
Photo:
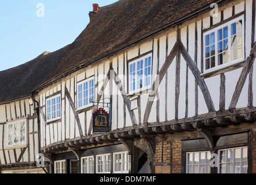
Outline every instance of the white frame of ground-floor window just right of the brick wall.
[[(192, 156), (192, 164), (189, 164), (189, 154), (193, 154)], [(195, 154), (198, 154), (198, 163), (196, 164), (195, 162)], [(208, 156), (210, 154), (210, 156)], [(207, 161), (207, 157), (210, 157), (211, 159), (211, 153), (210, 151), (194, 151), (194, 152), (187, 152), (186, 153), (186, 173), (189, 173), (189, 166), (192, 167), (192, 173), (196, 173), (195, 172), (195, 166), (198, 166), (198, 172), (197, 173), (206, 173), (207, 172), (207, 168), (209, 168), (209, 173), (210, 173), (210, 170), (211, 170), (211, 167), (210, 167), (210, 159), (209, 162), (204, 162), (204, 163), (200, 163), (200, 158), (201, 156), (204, 155), (204, 160)], [(201, 172), (201, 168), (200, 166), (203, 166), (204, 167), (204, 171)]]

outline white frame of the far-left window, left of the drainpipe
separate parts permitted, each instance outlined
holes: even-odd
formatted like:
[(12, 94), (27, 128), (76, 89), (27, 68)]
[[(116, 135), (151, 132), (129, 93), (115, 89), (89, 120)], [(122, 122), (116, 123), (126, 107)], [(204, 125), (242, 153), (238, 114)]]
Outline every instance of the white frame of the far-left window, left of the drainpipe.
[[(23, 124), (23, 134), (24, 134), (24, 142), (21, 142), (21, 124)], [(16, 132), (14, 128), (17, 128)], [(8, 148), (16, 148), (16, 147), (24, 147), (27, 146), (27, 119), (21, 119), (21, 120), (15, 120), (15, 121), (10, 121), (9, 123), (6, 124), (6, 146)], [(10, 130), (12, 129), (12, 130)], [(16, 137), (15, 137), (16, 133)], [(18, 138), (17, 143), (14, 143), (14, 139)], [(9, 143), (9, 139), (12, 140), (12, 143)]]

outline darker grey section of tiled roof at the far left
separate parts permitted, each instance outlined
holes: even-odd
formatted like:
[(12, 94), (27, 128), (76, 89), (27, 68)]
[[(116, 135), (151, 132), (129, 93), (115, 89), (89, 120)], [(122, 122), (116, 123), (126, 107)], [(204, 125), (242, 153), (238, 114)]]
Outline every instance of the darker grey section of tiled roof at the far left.
[(68, 47), (69, 45), (47, 55), (43, 53), (32, 61), (1, 71), (0, 102), (30, 95), (34, 88), (49, 79), (49, 73), (56, 69)]

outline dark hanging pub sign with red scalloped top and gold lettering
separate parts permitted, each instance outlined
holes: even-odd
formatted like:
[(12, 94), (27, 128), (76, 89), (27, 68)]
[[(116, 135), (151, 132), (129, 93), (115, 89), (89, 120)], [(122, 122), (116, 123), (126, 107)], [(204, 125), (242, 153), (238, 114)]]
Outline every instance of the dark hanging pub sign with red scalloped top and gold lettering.
[(93, 134), (109, 134), (109, 113), (103, 108), (93, 113)]

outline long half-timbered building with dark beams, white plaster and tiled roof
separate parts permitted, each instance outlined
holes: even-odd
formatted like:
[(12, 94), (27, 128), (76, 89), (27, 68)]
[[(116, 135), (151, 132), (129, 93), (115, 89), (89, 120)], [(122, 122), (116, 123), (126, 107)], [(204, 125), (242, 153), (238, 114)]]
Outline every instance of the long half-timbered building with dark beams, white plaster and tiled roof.
[(48, 173), (256, 172), (255, 0), (93, 10), (71, 45), (0, 72), (2, 171), (40, 153)]

